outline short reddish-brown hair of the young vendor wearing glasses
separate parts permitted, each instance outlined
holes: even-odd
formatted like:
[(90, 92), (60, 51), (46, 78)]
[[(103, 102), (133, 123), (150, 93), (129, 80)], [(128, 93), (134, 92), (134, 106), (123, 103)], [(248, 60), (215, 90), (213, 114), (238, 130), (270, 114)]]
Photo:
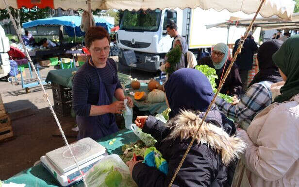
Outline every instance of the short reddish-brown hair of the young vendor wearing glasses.
[(101, 40), (103, 38), (107, 38), (110, 44), (110, 36), (108, 32), (101, 26), (89, 27), (85, 34), (85, 46), (90, 47), (91, 43), (95, 40)]

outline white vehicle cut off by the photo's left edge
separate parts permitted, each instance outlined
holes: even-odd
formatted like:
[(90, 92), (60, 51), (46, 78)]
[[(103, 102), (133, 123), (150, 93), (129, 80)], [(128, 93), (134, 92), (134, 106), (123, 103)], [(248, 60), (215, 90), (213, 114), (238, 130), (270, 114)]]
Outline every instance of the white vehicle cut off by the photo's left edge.
[(9, 39), (5, 36), (4, 29), (0, 25), (0, 79), (8, 77), (10, 72), (9, 56), (10, 50)]

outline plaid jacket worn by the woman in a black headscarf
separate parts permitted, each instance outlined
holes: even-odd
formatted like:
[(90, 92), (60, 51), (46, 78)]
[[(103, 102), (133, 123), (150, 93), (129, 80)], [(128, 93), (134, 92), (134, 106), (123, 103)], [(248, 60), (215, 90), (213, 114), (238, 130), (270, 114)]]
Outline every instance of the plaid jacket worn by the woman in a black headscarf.
[(271, 104), (270, 86), (272, 84), (272, 82), (263, 81), (251, 85), (236, 105), (231, 105), (217, 97), (216, 105), (225, 116), (234, 119), (242, 129), (247, 130), (256, 114)]

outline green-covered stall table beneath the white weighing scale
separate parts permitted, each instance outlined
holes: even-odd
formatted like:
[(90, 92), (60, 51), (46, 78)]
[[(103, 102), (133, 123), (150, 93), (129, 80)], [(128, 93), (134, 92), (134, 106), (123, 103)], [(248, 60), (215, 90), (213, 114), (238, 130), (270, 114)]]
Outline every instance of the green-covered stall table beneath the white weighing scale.
[[(116, 139), (113, 144), (109, 145), (109, 142), (113, 139)], [(121, 147), (124, 144), (137, 141), (139, 138), (132, 132), (127, 129), (120, 130), (115, 134), (106, 136), (98, 140), (102, 146), (106, 148), (108, 154), (122, 154)], [(4, 184), (17, 183), (17, 184), (26, 184), (26, 187), (59, 187), (58, 182), (46, 170), (41, 163), (29, 168), (27, 170), (21, 171), (15, 176), (3, 181)], [(73, 185), (73, 187), (83, 187), (83, 182)]]

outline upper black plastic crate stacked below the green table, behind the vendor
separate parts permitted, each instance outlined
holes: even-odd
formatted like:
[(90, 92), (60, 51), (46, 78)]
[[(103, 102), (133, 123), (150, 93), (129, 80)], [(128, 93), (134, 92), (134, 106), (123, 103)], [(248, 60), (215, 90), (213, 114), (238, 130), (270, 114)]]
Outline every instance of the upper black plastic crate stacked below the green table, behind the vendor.
[(70, 102), (73, 99), (73, 92), (69, 87), (52, 83), (52, 92), (54, 101)]

